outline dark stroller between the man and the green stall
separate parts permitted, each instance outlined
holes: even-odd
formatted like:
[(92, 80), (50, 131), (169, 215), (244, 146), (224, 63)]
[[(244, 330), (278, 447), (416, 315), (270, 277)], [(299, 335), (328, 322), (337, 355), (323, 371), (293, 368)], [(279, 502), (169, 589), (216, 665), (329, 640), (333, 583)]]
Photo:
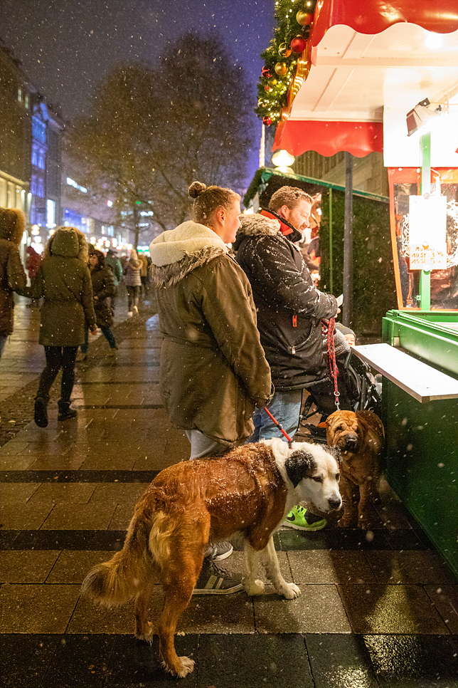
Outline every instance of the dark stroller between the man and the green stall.
[[(358, 358), (351, 349), (345, 359), (337, 360), (337, 385), (339, 390), (339, 405), (342, 410), (373, 411), (381, 414), (381, 378), (371, 374), (367, 363)], [(312, 382), (307, 386), (309, 396), (302, 405), (299, 416), (297, 433), (311, 437), (314, 442), (326, 444), (326, 427), (324, 421), (337, 410), (334, 397), (334, 380), (327, 375), (322, 380)], [(318, 424), (309, 422), (311, 417), (321, 414)], [(305, 432), (302, 432), (302, 429)]]

